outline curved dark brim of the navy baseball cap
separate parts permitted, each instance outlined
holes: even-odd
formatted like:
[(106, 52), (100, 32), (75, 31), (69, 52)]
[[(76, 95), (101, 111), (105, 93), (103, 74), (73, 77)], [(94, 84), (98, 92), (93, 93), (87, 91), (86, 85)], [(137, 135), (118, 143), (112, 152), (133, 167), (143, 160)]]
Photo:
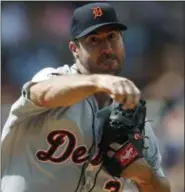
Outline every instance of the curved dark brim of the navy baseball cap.
[(103, 27), (103, 26), (113, 26), (115, 28), (118, 28), (120, 29), (121, 31), (124, 31), (127, 29), (127, 26), (126, 25), (123, 25), (122, 23), (117, 23), (117, 22), (109, 22), (109, 23), (102, 23), (102, 24), (98, 24), (98, 25), (94, 25), (94, 26), (91, 26), (89, 28), (87, 28), (86, 30), (84, 30), (82, 33), (80, 33), (79, 35), (77, 35), (75, 37), (75, 39), (78, 39), (78, 38), (81, 38), (81, 37), (84, 37), (86, 35), (88, 35), (89, 33), (97, 30), (98, 28), (100, 27)]

